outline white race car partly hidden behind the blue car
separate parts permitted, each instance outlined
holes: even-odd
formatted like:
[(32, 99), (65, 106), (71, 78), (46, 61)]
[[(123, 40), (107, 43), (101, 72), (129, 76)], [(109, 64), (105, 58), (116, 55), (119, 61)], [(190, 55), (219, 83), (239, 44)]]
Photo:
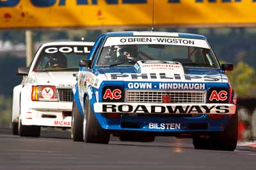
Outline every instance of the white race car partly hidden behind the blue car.
[(30, 67), (13, 89), (12, 130), (20, 136), (40, 136), (41, 126), (71, 127), (72, 87), (79, 60), (86, 58), (91, 42), (54, 42), (40, 46)]

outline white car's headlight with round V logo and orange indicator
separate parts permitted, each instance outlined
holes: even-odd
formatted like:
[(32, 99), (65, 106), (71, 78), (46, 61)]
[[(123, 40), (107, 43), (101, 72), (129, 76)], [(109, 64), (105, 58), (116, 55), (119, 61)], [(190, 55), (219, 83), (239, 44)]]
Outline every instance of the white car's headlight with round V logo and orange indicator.
[(58, 94), (54, 86), (32, 86), (32, 101), (58, 101)]

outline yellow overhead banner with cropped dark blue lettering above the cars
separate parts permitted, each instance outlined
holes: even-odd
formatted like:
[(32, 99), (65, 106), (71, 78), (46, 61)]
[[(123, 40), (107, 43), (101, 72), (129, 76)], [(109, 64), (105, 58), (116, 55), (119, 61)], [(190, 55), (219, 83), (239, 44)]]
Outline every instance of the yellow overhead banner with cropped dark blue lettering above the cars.
[[(150, 27), (153, 0), (0, 0), (0, 29)], [(256, 0), (155, 0), (154, 25), (255, 27)]]

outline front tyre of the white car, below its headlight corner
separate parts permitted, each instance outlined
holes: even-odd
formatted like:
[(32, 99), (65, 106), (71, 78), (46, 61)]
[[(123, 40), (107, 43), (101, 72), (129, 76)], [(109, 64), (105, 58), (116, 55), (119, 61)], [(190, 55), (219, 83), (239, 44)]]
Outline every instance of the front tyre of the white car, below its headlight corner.
[(20, 136), (31, 136), (38, 138), (40, 136), (41, 127), (37, 125), (22, 125), (21, 118), (19, 118), (18, 131)]

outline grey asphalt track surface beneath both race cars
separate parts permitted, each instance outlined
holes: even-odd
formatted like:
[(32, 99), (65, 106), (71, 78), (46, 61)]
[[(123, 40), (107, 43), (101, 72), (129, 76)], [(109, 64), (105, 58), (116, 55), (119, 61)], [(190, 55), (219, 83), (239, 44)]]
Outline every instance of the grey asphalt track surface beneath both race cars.
[(256, 150), (194, 150), (191, 139), (159, 137), (153, 143), (109, 145), (74, 142), (70, 132), (43, 131), (40, 138), (0, 129), (0, 169), (256, 169)]

